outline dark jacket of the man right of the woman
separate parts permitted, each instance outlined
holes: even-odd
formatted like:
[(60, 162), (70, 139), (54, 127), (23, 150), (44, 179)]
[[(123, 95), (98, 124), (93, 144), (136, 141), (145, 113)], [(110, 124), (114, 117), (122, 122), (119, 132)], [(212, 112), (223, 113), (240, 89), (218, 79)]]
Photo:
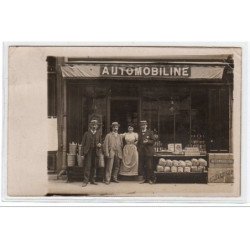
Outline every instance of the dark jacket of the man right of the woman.
[[(143, 140), (145, 139), (148, 140), (147, 143), (143, 143)], [(137, 144), (139, 154), (143, 154), (145, 156), (153, 156), (155, 153), (154, 143), (155, 143), (155, 138), (151, 130), (146, 130), (144, 135), (140, 131)]]

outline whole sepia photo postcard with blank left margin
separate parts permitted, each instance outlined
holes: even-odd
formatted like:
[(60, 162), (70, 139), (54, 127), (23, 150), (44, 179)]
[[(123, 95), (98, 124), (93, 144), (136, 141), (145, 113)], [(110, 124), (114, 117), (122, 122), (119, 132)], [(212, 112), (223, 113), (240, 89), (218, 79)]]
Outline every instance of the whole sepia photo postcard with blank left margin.
[(7, 198), (241, 197), (242, 47), (8, 45), (6, 79)]

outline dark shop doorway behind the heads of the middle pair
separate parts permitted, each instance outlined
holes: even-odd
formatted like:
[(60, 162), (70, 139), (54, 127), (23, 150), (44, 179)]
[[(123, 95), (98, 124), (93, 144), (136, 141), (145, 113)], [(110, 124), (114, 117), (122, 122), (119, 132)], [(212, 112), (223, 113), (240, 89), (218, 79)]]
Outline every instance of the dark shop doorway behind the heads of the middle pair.
[(113, 121), (119, 122), (120, 133), (126, 132), (130, 123), (134, 125), (134, 130), (138, 131), (139, 116), (138, 99), (110, 100), (110, 124)]

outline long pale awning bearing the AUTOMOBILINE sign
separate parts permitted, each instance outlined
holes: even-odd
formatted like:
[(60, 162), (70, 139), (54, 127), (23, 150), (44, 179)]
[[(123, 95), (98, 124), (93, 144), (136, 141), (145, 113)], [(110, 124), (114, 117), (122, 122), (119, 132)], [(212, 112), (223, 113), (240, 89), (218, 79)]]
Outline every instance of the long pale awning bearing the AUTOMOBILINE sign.
[(66, 64), (64, 78), (222, 79), (225, 64)]

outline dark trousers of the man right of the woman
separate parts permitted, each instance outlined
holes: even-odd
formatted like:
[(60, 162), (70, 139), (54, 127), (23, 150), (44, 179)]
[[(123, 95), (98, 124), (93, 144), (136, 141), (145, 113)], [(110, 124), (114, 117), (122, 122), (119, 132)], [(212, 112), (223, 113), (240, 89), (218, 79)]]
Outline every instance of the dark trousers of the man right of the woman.
[(143, 175), (146, 181), (154, 180), (153, 156), (139, 154), (139, 173)]

